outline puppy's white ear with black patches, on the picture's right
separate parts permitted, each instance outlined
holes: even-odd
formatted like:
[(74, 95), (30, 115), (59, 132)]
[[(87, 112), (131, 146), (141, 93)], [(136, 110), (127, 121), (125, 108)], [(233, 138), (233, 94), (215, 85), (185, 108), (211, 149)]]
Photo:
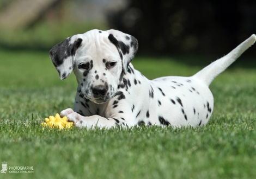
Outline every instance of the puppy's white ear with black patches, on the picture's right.
[(129, 34), (124, 34), (119, 30), (108, 30), (108, 34), (109, 41), (111, 41), (118, 49), (122, 60), (123, 73), (126, 74), (129, 63), (137, 53), (138, 41), (135, 37)]

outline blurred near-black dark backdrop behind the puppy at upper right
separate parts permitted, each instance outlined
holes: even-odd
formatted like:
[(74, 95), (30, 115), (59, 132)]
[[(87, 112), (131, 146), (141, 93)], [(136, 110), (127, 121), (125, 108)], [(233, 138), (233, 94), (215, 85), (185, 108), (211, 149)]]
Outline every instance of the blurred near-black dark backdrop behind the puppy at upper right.
[(108, 21), (135, 36), (144, 54), (223, 55), (256, 33), (255, 17), (256, 1), (130, 0)]

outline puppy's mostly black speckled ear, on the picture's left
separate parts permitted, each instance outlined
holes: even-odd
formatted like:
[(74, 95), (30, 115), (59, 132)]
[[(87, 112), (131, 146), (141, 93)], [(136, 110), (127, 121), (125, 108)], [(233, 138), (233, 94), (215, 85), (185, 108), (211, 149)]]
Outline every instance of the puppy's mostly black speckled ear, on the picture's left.
[(59, 72), (60, 79), (67, 78), (75, 65), (76, 50), (81, 46), (80, 34), (68, 37), (50, 50), (53, 65)]

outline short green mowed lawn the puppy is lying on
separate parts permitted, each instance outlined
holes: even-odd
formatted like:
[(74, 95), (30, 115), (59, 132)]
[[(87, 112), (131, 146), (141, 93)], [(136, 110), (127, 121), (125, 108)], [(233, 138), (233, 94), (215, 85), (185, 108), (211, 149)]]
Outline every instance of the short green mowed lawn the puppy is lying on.
[[(0, 161), (33, 167), (0, 178), (256, 178), (256, 68), (238, 61), (211, 84), (215, 106), (204, 127), (58, 131), (40, 123), (73, 107), (75, 75), (60, 80), (47, 52), (0, 50)], [(171, 57), (132, 63), (149, 79), (203, 67)]]

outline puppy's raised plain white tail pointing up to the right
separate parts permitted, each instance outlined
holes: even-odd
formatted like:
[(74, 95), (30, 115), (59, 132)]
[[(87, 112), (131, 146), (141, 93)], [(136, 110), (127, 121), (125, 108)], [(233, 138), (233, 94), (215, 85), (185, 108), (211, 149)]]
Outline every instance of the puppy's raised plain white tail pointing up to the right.
[(212, 80), (214, 80), (217, 75), (219, 75), (228, 66), (230, 66), (231, 63), (233, 63), (243, 52), (245, 52), (245, 50), (251, 47), (255, 40), (256, 36), (253, 34), (251, 37), (237, 46), (234, 50), (232, 50), (229, 54), (212, 62), (210, 65), (206, 66), (201, 71), (193, 75), (193, 77), (203, 81), (205, 85), (209, 86)]

